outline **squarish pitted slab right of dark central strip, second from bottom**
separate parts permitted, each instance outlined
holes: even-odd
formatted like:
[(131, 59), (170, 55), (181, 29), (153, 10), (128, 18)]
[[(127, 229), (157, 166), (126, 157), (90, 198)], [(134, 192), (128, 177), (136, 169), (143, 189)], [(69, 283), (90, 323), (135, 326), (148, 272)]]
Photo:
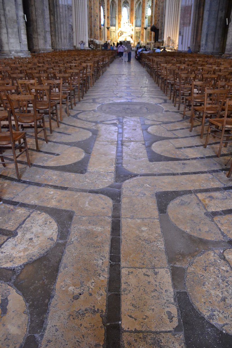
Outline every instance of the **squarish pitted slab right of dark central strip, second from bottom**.
[(169, 270), (123, 268), (121, 306), (124, 330), (173, 330), (178, 319)]

